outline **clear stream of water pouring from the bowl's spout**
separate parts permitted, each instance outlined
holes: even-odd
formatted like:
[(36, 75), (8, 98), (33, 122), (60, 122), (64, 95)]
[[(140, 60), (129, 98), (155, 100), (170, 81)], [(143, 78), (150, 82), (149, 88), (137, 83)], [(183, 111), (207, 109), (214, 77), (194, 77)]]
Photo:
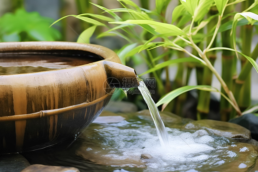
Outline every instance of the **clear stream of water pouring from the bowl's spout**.
[(140, 79), (139, 77), (137, 77), (137, 80), (139, 81), (138, 89), (142, 93), (143, 99), (145, 100), (146, 104), (148, 105), (148, 108), (150, 110), (150, 114), (154, 121), (161, 145), (167, 146), (167, 145), (169, 145), (169, 137), (168, 137), (165, 125), (161, 119), (158, 107), (156, 106), (155, 102), (153, 101), (152, 96), (151, 96), (147, 86), (143, 82), (143, 80)]

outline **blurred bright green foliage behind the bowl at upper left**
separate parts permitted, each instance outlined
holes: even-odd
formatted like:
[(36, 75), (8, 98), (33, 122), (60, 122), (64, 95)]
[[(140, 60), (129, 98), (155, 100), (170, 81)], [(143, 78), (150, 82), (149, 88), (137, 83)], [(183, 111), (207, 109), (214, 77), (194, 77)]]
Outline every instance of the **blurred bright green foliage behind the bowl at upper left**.
[(56, 41), (60, 32), (49, 28), (52, 19), (40, 16), (37, 12), (18, 9), (0, 18), (0, 42), (9, 41)]

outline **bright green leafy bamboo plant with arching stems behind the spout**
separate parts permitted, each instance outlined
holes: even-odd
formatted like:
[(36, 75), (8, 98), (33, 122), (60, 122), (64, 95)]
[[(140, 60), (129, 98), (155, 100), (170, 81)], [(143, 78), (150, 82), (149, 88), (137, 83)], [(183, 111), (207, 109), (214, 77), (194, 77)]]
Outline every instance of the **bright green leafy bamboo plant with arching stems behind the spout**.
[[(165, 18), (165, 14), (171, 11), (167, 8), (170, 0), (156, 0), (156, 8), (153, 11), (141, 8), (130, 0), (117, 1), (122, 8), (108, 9), (91, 3), (103, 10), (102, 15), (69, 15), (92, 25), (82, 32), (81, 37), (89, 40), (89, 36), (93, 34), (95, 27), (98, 26), (106, 29), (105, 32), (98, 35), (98, 38), (112, 35), (122, 37), (128, 41), (126, 45), (118, 50), (122, 63), (128, 65), (128, 62), (130, 64), (133, 62), (132, 67), (134, 67), (137, 64), (135, 58), (141, 58), (141, 61), (146, 62), (147, 69), (140, 75), (150, 74), (156, 78), (158, 94), (160, 97), (163, 96), (157, 105), (164, 104), (163, 109), (174, 98), (192, 89), (219, 92), (214, 87), (206, 85), (185, 86), (192, 68), (205, 67), (217, 77), (226, 94), (219, 93), (232, 105), (237, 114), (241, 115), (237, 100), (235, 100), (234, 94), (226, 84), (228, 82), (225, 82), (214, 68), (212, 65), (214, 59), (211, 61), (210, 56), (211, 54), (216, 55), (216, 51), (222, 50), (237, 52), (246, 58), (258, 72), (258, 65), (254, 60), (258, 53), (255, 51), (249, 57), (243, 51), (238, 51), (235, 44), (237, 39), (235, 34), (236, 27), (248, 24), (256, 26), (258, 24), (256, 22), (258, 18), (257, 0), (244, 11), (230, 11), (229, 8), (235, 9), (236, 4), (243, 3), (246, 0), (179, 0), (180, 4), (172, 12), (171, 23)], [(217, 37), (218, 33), (229, 31), (230, 29), (232, 30), (232, 35), (230, 37), (228, 34), (228, 42), (231, 40), (234, 42), (234, 49), (216, 47), (217, 42), (220, 41)], [(241, 46), (241, 42), (239, 45)], [(177, 56), (176, 59), (174, 58), (175, 56)], [(189, 66), (188, 71), (185, 71), (186, 68), (183, 68), (182, 63)], [(178, 86), (173, 86), (174, 90), (169, 92), (170, 89), (165, 89), (164, 87), (161, 74), (165, 73), (167, 75), (165, 82), (166, 86), (169, 86), (168, 67), (172, 64), (181, 65), (176, 77), (176, 83), (178, 80), (181, 83)], [(234, 62), (232, 65), (235, 64)], [(245, 74), (248, 75), (248, 72), (250, 71)], [(182, 73), (187, 73), (187, 80), (182, 78)], [(197, 77), (202, 78), (202, 76), (203, 74), (199, 75), (198, 73)], [(233, 76), (231, 76), (230, 80), (233, 82)]]

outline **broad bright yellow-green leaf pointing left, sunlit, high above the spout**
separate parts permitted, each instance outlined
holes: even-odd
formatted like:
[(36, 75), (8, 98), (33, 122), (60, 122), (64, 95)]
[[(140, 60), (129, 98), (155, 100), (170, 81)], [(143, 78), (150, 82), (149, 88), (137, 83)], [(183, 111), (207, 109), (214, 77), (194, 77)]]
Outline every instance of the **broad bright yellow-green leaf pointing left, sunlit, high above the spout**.
[(153, 29), (155, 29), (156, 32), (159, 32), (162, 34), (170, 34), (170, 36), (178, 36), (181, 34), (185, 35), (185, 33), (175, 25), (156, 22), (152, 20), (126, 20), (123, 22), (110, 22), (110, 23), (115, 23), (115, 24), (130, 23), (130, 24), (137, 24), (137, 25), (147, 24), (151, 26)]

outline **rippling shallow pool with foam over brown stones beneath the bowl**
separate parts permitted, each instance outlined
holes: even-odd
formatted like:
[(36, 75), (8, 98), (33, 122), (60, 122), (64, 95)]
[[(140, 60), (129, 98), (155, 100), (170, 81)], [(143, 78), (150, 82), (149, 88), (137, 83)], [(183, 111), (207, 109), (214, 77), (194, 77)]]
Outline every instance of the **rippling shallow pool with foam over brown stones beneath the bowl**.
[[(243, 139), (250, 138), (250, 134), (247, 137), (248, 130), (239, 125), (213, 120), (197, 122), (162, 112), (170, 145), (161, 146), (148, 111), (105, 112), (103, 115), (124, 119), (120, 122), (107, 119), (105, 122), (102, 118), (101, 123), (92, 123), (65, 151), (55, 153), (52, 149), (47, 157), (40, 155), (41, 159), (34, 159), (39, 163), (54, 159), (58, 165), (95, 172), (122, 169), (135, 172), (255, 172), (258, 169), (258, 147), (254, 146), (258, 143)], [(239, 135), (241, 139), (234, 138)], [(34, 161), (34, 164), (38, 162)], [(57, 164), (53, 161), (52, 165)]]

